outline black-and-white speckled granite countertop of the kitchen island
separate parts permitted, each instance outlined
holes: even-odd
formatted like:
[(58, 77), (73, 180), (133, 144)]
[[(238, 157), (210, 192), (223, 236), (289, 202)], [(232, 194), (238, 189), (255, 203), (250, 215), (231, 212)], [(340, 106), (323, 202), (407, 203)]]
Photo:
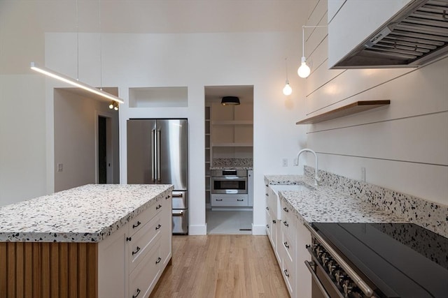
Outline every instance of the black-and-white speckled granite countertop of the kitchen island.
[(172, 189), (165, 184), (87, 184), (0, 207), (0, 241), (102, 241)]

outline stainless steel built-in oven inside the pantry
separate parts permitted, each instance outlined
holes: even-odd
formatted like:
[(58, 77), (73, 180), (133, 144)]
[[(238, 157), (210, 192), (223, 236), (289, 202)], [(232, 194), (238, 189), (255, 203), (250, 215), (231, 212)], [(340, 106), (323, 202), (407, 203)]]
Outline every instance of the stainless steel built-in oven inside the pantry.
[(212, 194), (247, 194), (247, 170), (212, 170)]

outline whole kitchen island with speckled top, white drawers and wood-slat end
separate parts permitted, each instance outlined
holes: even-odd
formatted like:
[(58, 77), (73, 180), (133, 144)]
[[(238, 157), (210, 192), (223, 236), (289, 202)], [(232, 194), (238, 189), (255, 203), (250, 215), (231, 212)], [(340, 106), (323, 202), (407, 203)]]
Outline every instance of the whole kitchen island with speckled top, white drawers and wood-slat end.
[(0, 207), (5, 297), (147, 297), (172, 256), (172, 185), (90, 184)]

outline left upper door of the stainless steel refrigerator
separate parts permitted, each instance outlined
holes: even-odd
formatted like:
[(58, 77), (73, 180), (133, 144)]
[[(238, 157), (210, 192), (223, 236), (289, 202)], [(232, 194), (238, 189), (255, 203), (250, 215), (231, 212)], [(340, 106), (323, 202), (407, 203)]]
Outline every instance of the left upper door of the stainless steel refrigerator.
[(153, 130), (155, 120), (127, 121), (127, 183), (155, 184), (153, 176)]

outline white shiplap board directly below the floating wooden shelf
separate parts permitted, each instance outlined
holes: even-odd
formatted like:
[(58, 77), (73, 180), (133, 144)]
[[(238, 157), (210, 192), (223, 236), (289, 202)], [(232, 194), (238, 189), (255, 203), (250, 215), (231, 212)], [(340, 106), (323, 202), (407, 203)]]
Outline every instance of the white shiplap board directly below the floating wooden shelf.
[(322, 131), (309, 138), (315, 137), (314, 149), (320, 152), (448, 166), (448, 141), (440, 142), (433, 127), (448, 128), (448, 112)]

